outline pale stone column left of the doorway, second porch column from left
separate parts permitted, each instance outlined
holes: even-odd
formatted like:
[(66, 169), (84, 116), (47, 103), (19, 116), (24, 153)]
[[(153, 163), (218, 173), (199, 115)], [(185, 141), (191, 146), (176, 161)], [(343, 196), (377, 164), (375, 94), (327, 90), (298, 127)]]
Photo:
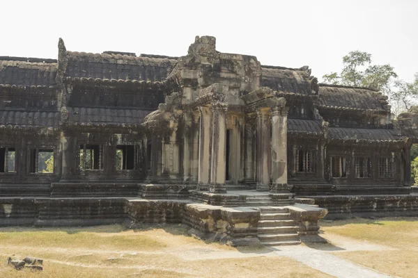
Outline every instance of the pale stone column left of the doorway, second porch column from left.
[[(212, 157), (210, 163), (210, 192), (226, 193), (226, 111), (228, 104), (212, 105)], [(239, 165), (239, 162), (238, 162)]]

